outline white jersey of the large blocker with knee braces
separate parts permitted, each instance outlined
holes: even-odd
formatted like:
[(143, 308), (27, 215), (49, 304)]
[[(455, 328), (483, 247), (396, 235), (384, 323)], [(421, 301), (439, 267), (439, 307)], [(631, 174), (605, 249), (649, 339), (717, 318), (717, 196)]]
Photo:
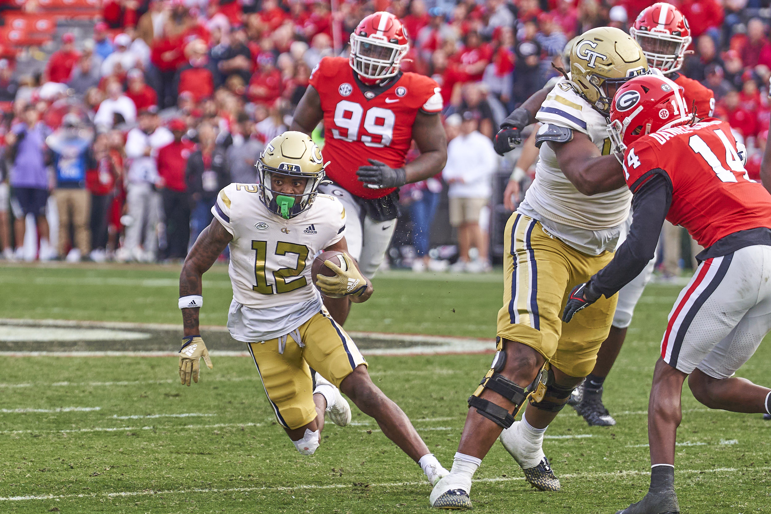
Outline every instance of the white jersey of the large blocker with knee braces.
[[(579, 96), (567, 79), (557, 81), (536, 118), (541, 123), (584, 133), (602, 155), (611, 153), (608, 119)], [(540, 146), (538, 156), (535, 180), (525, 193), (523, 213), (540, 220), (554, 235), (578, 250), (588, 254), (614, 250), (618, 226), (628, 216), (631, 205), (628, 187), (588, 197), (564, 176), (548, 143)]]

